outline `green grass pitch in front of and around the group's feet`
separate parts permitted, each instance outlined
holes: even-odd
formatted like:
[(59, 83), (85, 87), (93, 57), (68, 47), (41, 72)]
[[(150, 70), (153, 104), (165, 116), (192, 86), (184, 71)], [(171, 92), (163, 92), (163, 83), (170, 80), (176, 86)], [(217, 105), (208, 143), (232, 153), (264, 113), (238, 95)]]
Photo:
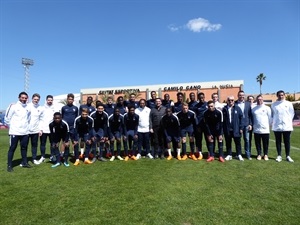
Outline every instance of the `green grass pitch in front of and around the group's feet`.
[(1, 130), (0, 224), (299, 224), (300, 128), (292, 134), (295, 163), (277, 163), (272, 140), (269, 161), (43, 163), (8, 173)]

